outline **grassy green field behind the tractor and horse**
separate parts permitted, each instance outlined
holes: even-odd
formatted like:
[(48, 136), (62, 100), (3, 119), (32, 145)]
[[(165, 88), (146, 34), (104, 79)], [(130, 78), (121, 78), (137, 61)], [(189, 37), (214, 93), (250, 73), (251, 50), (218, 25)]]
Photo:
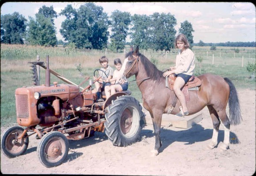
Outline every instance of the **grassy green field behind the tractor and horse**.
[[(248, 62), (255, 63), (256, 48), (238, 48), (239, 53), (235, 53), (232, 47), (217, 47), (216, 51), (211, 51), (210, 47), (193, 47), (196, 57), (201, 57), (202, 62), (196, 60), (195, 73), (213, 73), (222, 77), (228, 77), (235, 84), (237, 89), (256, 89), (255, 79), (250, 79), (250, 74), (246, 70)], [(237, 48), (236, 48), (237, 49)], [(129, 51), (127, 46), (126, 51)], [(140, 52), (156, 64), (159, 70), (175, 65), (177, 51), (172, 53), (155, 52), (152, 50)], [(15, 112), (15, 89), (22, 86), (32, 86), (31, 67), (28, 62), (45, 62), (49, 55), (49, 67), (60, 73), (75, 84), (80, 84), (84, 77), (93, 77), (95, 69), (100, 67), (98, 59), (102, 55), (109, 58), (109, 65), (114, 68), (113, 60), (120, 58), (124, 60), (124, 53), (113, 53), (110, 50), (76, 50), (74, 48), (45, 48), (32, 47), (27, 45), (7, 45), (1, 44), (1, 127), (12, 125), (16, 122)], [(81, 73), (77, 65), (81, 64)], [(81, 76), (83, 75), (83, 76)], [(135, 77), (129, 78), (129, 81)], [(64, 83), (59, 78), (51, 75), (51, 84), (57, 81)], [(45, 70), (41, 69), (40, 83), (45, 83)], [(86, 82), (82, 87), (86, 87)], [(142, 102), (141, 93), (135, 82), (129, 84), (132, 95)]]

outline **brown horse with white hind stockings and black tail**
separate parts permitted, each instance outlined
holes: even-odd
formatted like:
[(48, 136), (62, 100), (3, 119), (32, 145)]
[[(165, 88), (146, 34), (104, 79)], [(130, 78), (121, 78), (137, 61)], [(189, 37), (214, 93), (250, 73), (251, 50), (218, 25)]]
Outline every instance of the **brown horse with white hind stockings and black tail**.
[[(162, 146), (160, 129), (162, 114), (177, 114), (180, 112), (179, 105), (171, 104), (171, 90), (166, 88), (166, 79), (163, 72), (158, 70), (144, 55), (139, 53), (139, 47), (126, 55), (124, 75), (128, 78), (135, 75), (136, 82), (142, 94), (143, 107), (149, 111), (154, 126), (155, 147), (154, 154), (157, 155)], [(226, 150), (230, 144), (230, 125), (238, 125), (242, 121), (240, 104), (237, 91), (228, 78), (222, 78), (213, 74), (203, 74), (198, 77), (201, 81), (199, 91), (189, 91), (190, 100), (187, 102), (189, 115), (195, 114), (207, 106), (212, 123), (213, 135), (209, 148), (217, 146), (218, 128), (220, 123), (224, 126), (224, 141), (221, 149)], [(227, 117), (226, 106), (229, 102), (230, 117)]]

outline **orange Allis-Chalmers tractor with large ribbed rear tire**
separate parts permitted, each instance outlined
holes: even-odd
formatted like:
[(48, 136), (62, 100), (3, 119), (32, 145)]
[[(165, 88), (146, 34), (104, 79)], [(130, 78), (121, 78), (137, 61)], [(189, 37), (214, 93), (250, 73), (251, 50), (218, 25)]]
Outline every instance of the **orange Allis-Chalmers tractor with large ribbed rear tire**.
[[(37, 147), (39, 160), (45, 167), (54, 167), (64, 162), (68, 155), (69, 142), (90, 137), (95, 131), (105, 132), (114, 146), (135, 143), (143, 128), (144, 114), (139, 102), (131, 92), (117, 92), (98, 102), (92, 93), (92, 84), (80, 91), (79, 85), (68, 81), (49, 69), (49, 57), (44, 62), (30, 62), (34, 71), (35, 86), (17, 88), (15, 91), (17, 123), (20, 126), (7, 128), (1, 140), (1, 149), (8, 158), (22, 155), (29, 143), (29, 136), (36, 134), (41, 139)], [(45, 70), (45, 84), (38, 84), (36, 66)], [(104, 72), (104, 71), (103, 71)], [(72, 84), (50, 84), (50, 73)]]

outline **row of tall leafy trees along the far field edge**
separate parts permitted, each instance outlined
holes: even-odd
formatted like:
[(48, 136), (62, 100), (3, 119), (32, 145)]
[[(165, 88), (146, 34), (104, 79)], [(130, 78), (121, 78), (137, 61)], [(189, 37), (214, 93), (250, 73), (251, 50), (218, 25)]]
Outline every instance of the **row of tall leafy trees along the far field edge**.
[[(66, 18), (61, 23), (60, 34), (65, 44), (71, 44), (75, 48), (110, 48), (120, 52), (125, 48), (128, 36), (131, 45), (139, 45), (145, 50), (151, 48), (155, 51), (170, 51), (174, 48), (177, 34), (174, 27), (177, 20), (170, 13), (131, 15), (129, 12), (115, 10), (108, 16), (103, 7), (94, 3), (85, 3), (78, 9), (69, 4), (59, 14), (53, 10), (53, 6), (43, 5), (35, 18), (29, 17), (28, 20), (18, 12), (1, 15), (1, 43), (53, 47), (63, 43), (62, 40), (57, 41), (54, 26), (54, 18), (60, 15)], [(191, 47), (196, 45), (192, 32), (194, 30), (190, 22), (181, 22), (178, 33), (187, 36)]]

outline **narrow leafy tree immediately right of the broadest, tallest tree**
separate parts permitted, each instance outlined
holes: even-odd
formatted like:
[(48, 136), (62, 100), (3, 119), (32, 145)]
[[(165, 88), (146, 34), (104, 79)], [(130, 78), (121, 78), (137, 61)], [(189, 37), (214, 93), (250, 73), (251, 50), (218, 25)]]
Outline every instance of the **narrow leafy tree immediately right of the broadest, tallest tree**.
[(131, 23), (131, 15), (129, 12), (121, 12), (115, 10), (110, 16), (111, 20), (111, 44), (110, 48), (112, 50), (123, 50), (125, 47), (125, 38), (128, 36), (128, 29)]

